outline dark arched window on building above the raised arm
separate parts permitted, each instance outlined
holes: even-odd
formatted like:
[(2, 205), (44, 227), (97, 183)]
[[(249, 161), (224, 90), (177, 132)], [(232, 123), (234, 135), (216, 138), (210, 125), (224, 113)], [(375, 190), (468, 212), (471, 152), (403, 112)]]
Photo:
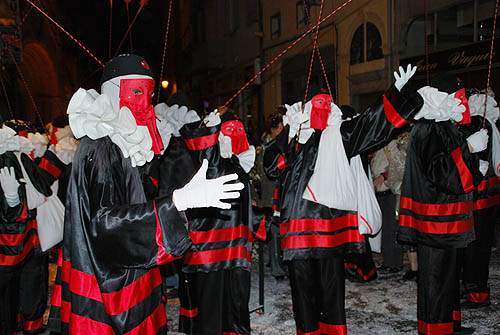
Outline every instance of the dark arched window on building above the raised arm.
[[(366, 38), (365, 38), (366, 37)], [(351, 41), (351, 65), (361, 64), (384, 57), (382, 36), (377, 26), (365, 22), (356, 29)]]

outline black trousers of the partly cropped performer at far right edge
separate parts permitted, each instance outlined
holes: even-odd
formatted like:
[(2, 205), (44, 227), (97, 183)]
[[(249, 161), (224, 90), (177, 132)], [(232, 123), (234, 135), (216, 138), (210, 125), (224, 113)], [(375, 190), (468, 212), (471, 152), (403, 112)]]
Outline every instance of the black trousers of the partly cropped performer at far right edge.
[(462, 273), (462, 282), (470, 302), (485, 302), (490, 297), (488, 278), (497, 213), (498, 207), (474, 211), (476, 240), (464, 249)]

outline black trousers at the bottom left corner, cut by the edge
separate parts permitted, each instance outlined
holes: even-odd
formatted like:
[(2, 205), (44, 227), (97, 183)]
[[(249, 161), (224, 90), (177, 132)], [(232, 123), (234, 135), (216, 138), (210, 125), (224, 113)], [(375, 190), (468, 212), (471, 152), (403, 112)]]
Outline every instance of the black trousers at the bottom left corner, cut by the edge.
[(22, 265), (0, 266), (0, 335), (16, 333), (21, 269)]

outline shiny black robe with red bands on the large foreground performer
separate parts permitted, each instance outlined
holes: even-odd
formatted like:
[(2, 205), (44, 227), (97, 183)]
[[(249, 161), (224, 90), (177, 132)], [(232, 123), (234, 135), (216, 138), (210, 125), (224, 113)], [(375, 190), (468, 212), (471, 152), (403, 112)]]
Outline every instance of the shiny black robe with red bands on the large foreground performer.
[(108, 137), (84, 137), (73, 159), (54, 287), (60, 331), (165, 334), (157, 265), (190, 247), (186, 224), (169, 196), (147, 201), (139, 169)]

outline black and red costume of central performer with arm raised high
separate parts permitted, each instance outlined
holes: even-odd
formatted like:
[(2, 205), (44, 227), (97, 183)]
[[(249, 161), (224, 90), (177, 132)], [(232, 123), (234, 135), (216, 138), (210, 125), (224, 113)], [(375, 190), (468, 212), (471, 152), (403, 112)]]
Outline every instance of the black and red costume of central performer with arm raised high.
[[(340, 127), (348, 158), (368, 154), (387, 143), (422, 105), (409, 88), (392, 86), (378, 105)], [(322, 131), (305, 144), (288, 143), (283, 131), (265, 149), (264, 166), (279, 178), (280, 235), (288, 262), (298, 334), (346, 334), (344, 254), (361, 253), (365, 239), (356, 212), (341, 211), (303, 199), (313, 174)]]

